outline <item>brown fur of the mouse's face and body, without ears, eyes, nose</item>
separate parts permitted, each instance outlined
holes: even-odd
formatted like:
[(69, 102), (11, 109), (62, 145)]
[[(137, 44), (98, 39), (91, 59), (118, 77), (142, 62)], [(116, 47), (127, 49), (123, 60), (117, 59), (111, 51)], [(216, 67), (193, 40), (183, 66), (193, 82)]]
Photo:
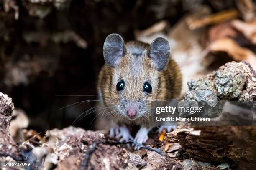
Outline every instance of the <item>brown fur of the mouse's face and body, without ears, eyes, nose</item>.
[[(127, 54), (122, 57), (121, 63), (115, 68), (103, 65), (97, 82), (97, 90), (106, 107), (108, 116), (115, 122), (148, 125), (150, 122), (151, 101), (171, 100), (179, 97), (182, 78), (177, 63), (170, 59), (161, 72), (151, 66), (148, 57), (149, 45), (143, 42), (132, 41), (125, 45)], [(116, 90), (116, 84), (124, 80), (125, 89)], [(150, 94), (143, 92), (143, 84), (149, 82), (152, 86)], [(135, 120), (126, 117), (125, 105), (136, 102), (139, 105), (138, 116)]]

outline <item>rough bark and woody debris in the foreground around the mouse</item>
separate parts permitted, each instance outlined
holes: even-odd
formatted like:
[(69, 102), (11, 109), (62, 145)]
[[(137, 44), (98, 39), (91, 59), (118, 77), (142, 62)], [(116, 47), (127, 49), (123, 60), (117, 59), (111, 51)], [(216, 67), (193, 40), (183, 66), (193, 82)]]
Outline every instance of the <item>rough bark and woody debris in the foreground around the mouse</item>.
[[(232, 69), (234, 71), (232, 71)], [(226, 72), (228, 70), (228, 72)], [(218, 74), (217, 74), (218, 72)], [(221, 77), (238, 76), (228, 80), (241, 85), (236, 90), (222, 90), (233, 87), (232, 82), (224, 86), (219, 84)], [(256, 75), (246, 62), (230, 62), (220, 67), (215, 74), (206, 77), (208, 83), (198, 80), (189, 86), (187, 97), (190, 100), (198, 91), (205, 91), (212, 87), (217, 97), (225, 99), (241, 98), (241, 100), (255, 99)], [(206, 80), (205, 80), (206, 81)], [(214, 85), (211, 85), (213, 83)], [(197, 85), (196, 85), (197, 84)], [(207, 84), (209, 85), (207, 87)], [(200, 88), (199, 88), (200, 87)], [(224, 92), (224, 93), (223, 93)], [(191, 95), (188, 95), (191, 93)], [(244, 94), (247, 97), (242, 97)], [(230, 98), (231, 97), (231, 98)], [(199, 100), (199, 99), (198, 99)], [(253, 168), (253, 141), (256, 129), (251, 126), (179, 126), (171, 133), (167, 133), (164, 142), (153, 135), (140, 150), (134, 151), (127, 143), (111, 141), (107, 131), (92, 131), (82, 128), (67, 127), (62, 130), (47, 130), (41, 138), (33, 131), (26, 135), (28, 140), (15, 143), (10, 137), (9, 124), (12, 118), (13, 103), (7, 95), (0, 93), (0, 159), (14, 161), (30, 161), (31, 168), (75, 170), (75, 169), (230, 169), (230, 167)], [(33, 140), (41, 142), (35, 143)], [(133, 143), (130, 141), (129, 143)]]

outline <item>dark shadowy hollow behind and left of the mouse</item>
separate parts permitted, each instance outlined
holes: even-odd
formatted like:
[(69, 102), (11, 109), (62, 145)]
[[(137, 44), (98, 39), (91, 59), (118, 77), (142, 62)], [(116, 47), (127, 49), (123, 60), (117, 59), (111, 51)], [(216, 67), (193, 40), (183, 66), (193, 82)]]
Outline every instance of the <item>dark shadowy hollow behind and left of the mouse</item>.
[[(15, 20), (15, 10), (4, 12), (4, 1), (0, 2), (0, 92), (13, 98), (15, 107), (30, 118), (29, 128), (38, 131), (72, 125), (76, 117), (95, 105), (87, 102), (59, 109), (97, 99), (97, 74), (104, 64), (102, 45), (110, 33), (119, 33), (125, 41), (134, 40), (134, 30), (163, 19), (171, 27), (200, 5), (209, 5), (213, 12), (235, 6), (233, 0), (72, 0), (57, 8), (47, 1), (35, 4), (18, 0), (19, 18)], [(36, 13), (47, 10), (50, 12), (44, 17)], [(87, 47), (52, 39), (66, 30), (84, 39)], [(14, 68), (26, 72), (25, 83), (8, 78)], [(89, 129), (93, 119), (90, 114), (75, 125)]]

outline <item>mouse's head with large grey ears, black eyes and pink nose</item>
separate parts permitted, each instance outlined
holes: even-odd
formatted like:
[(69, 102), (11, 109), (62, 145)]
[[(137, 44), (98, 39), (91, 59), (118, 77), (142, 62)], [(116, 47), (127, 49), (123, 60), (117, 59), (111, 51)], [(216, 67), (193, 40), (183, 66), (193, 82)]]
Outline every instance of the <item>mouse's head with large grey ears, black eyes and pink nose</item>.
[(113, 70), (109, 106), (114, 106), (117, 114), (128, 120), (149, 118), (151, 101), (164, 100), (159, 95), (160, 88), (164, 88), (160, 77), (169, 62), (168, 41), (156, 38), (151, 45), (143, 42), (125, 45), (120, 35), (110, 34), (104, 42), (103, 55)]

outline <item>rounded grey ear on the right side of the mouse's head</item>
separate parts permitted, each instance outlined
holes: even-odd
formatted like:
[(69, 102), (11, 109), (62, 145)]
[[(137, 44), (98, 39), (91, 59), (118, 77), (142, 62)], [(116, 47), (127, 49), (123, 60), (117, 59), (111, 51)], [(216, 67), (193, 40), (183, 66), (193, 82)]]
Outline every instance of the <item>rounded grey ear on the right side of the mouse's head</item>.
[(171, 48), (169, 42), (164, 38), (156, 38), (150, 45), (148, 56), (152, 60), (152, 65), (158, 71), (164, 69), (169, 62)]

